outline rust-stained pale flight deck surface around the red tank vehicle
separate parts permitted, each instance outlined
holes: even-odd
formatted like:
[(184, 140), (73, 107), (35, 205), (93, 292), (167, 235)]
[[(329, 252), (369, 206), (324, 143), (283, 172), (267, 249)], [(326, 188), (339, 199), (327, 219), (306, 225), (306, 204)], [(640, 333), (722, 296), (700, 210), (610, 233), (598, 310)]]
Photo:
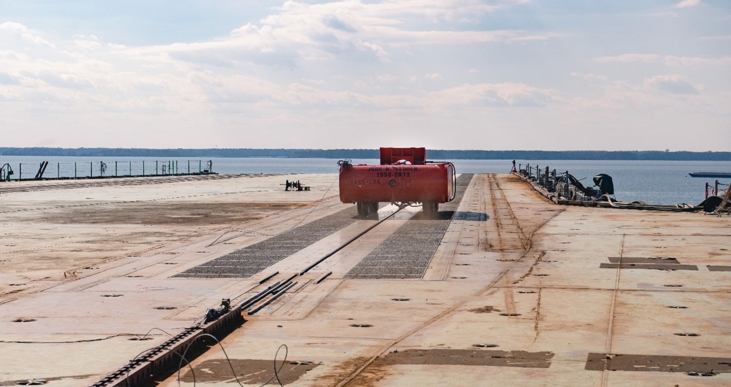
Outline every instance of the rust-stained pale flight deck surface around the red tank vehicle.
[[(352, 206), (336, 175), (298, 175), (312, 191), (285, 192), (292, 178), (0, 185), (0, 386), (91, 385), (221, 298), (240, 302), (374, 223), (356, 220), (249, 278), (173, 277)], [(512, 175), (474, 175), (422, 279), (345, 278), (418, 211), (245, 316), (221, 342), (239, 380), (268, 380), (284, 344), (287, 386), (731, 385), (731, 271), (708, 268), (731, 267), (731, 218), (562, 207)], [(692, 358), (720, 368), (692, 376), (671, 364)], [(197, 383), (236, 383), (220, 348), (193, 367)], [(181, 384), (193, 383), (183, 369)]]

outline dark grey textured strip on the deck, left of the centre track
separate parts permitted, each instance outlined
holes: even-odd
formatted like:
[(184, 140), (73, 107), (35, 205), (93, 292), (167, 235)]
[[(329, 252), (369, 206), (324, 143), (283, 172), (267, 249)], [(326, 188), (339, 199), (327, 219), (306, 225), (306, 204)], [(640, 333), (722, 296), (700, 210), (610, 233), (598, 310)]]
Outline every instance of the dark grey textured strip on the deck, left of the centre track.
[(355, 206), (284, 231), (173, 277), (248, 278), (357, 221)]

